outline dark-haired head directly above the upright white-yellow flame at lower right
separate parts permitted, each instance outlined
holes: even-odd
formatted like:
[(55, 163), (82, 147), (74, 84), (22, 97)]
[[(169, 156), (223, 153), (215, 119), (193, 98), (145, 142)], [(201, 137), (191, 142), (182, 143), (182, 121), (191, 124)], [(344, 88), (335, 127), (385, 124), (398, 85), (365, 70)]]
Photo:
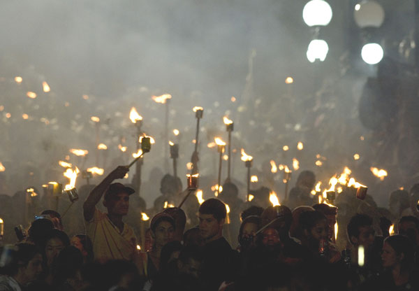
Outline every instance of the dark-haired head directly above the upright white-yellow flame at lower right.
[(348, 239), (353, 246), (363, 246), (369, 250), (374, 243), (374, 228), (372, 227), (372, 218), (365, 214), (355, 214), (349, 220), (346, 227)]

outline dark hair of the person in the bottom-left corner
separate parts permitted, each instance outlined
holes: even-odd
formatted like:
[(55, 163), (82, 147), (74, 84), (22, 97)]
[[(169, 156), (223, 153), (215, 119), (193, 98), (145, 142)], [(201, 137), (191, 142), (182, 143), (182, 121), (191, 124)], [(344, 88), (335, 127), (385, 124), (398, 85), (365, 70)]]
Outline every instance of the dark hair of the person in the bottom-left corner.
[[(3, 249), (6, 248), (3, 247)], [(6, 264), (2, 268), (1, 273), (8, 276), (14, 276), (19, 271), (20, 267), (26, 266), (30, 260), (32, 260), (35, 255), (41, 254), (41, 251), (31, 243), (17, 243), (13, 249), (9, 250), (10, 253), (10, 263)], [(0, 252), (3, 253), (3, 250)]]

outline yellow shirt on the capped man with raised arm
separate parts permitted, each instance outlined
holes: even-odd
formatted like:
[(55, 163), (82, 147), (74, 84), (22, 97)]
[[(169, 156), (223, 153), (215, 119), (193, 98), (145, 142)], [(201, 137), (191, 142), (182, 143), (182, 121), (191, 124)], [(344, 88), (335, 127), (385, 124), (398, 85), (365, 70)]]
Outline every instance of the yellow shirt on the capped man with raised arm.
[(95, 208), (94, 217), (86, 224), (86, 234), (93, 243), (94, 259), (99, 262), (107, 260), (133, 260), (137, 247), (137, 238), (133, 229), (124, 223), (124, 229), (113, 225), (106, 213)]

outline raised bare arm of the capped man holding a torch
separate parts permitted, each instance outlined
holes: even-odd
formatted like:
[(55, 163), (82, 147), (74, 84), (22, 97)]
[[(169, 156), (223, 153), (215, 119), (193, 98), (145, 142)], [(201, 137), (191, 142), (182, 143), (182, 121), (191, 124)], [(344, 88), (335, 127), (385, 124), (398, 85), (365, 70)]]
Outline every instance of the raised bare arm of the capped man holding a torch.
[(94, 215), (94, 208), (98, 201), (101, 201), (102, 195), (108, 189), (109, 185), (115, 179), (122, 179), (128, 173), (128, 166), (117, 166), (117, 169), (113, 170), (102, 182), (91, 190), (89, 196), (83, 204), (83, 215), (85, 220), (91, 220)]

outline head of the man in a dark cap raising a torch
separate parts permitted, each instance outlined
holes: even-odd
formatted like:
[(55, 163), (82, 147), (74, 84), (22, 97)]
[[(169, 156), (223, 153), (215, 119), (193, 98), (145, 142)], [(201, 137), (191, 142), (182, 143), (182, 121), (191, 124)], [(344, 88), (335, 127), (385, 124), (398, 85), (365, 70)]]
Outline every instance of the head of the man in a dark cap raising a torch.
[(125, 187), (121, 183), (109, 185), (103, 197), (103, 205), (108, 208), (108, 213), (112, 215), (127, 215), (129, 208), (129, 195), (135, 190)]

